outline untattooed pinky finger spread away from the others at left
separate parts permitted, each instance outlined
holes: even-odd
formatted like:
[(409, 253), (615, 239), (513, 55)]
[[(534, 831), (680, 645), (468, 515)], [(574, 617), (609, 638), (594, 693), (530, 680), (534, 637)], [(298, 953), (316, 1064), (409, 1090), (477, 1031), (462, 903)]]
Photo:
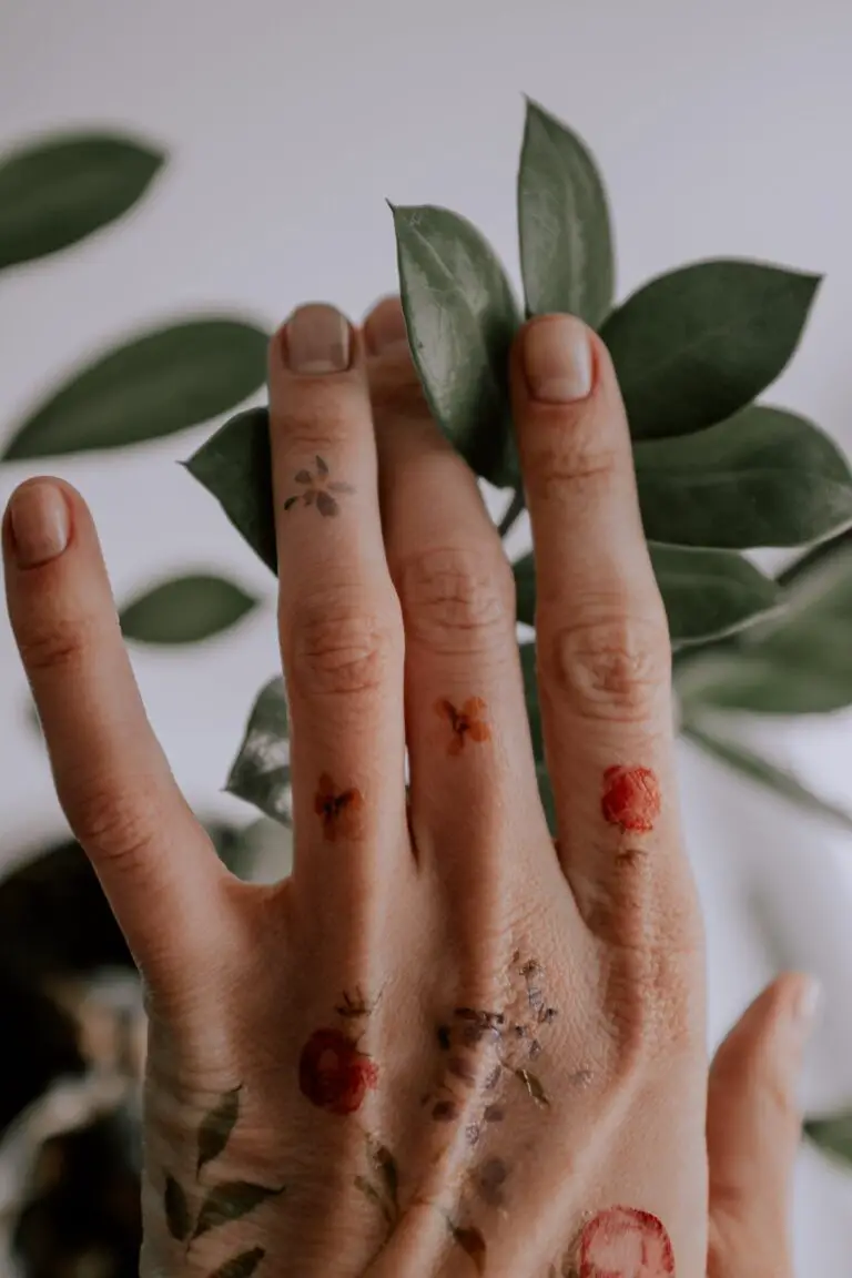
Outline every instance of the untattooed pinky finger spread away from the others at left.
[(215, 932), (218, 863), (148, 723), (79, 495), (55, 479), (22, 484), (3, 551), (9, 617), (60, 804), (156, 984)]

